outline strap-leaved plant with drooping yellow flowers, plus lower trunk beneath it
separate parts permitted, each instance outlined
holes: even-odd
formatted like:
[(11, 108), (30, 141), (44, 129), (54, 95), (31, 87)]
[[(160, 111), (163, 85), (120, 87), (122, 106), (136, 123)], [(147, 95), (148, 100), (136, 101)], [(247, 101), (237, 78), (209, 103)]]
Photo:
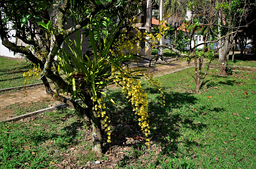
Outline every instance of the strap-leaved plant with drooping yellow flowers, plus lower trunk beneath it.
[[(123, 92), (127, 94), (127, 98), (135, 106), (135, 114), (140, 116), (139, 125), (142, 131), (146, 136), (150, 132), (147, 120), (147, 94), (137, 79), (147, 74), (143, 72), (143, 69), (131, 69), (127, 64), (122, 64), (122, 62), (134, 59), (136, 56), (115, 55), (113, 49), (110, 49), (114, 46), (114, 37), (119, 31), (119, 27), (114, 24), (109, 31), (106, 31), (101, 29), (98, 22), (96, 22), (95, 28), (89, 31), (93, 57), (89, 57), (86, 53), (82, 55), (83, 36), (81, 35), (81, 38), (79, 38), (78, 32), (77, 41), (72, 42), (70, 39), (66, 39), (71, 53), (63, 48), (58, 54), (59, 70), (64, 71), (67, 83), (73, 86), (72, 91), (69, 88), (64, 88), (63, 93), (71, 92), (72, 99), (79, 100), (85, 108), (85, 111), (81, 112), (81, 108), (75, 107), (80, 110), (80, 114), (92, 126), (93, 150), (98, 152), (101, 152), (103, 143), (102, 125), (106, 128), (107, 141), (111, 142), (111, 128), (108, 125), (110, 120), (104, 111), (105, 105), (102, 103), (102, 95), (105, 95), (114, 104), (115, 102), (103, 91), (107, 85), (116, 83), (123, 87)], [(116, 52), (120, 53), (119, 51)], [(151, 78), (150, 81), (152, 80)], [(160, 85), (158, 82), (153, 82), (153, 84)], [(161, 87), (157, 89), (161, 90)], [(149, 139), (146, 140), (149, 141)]]

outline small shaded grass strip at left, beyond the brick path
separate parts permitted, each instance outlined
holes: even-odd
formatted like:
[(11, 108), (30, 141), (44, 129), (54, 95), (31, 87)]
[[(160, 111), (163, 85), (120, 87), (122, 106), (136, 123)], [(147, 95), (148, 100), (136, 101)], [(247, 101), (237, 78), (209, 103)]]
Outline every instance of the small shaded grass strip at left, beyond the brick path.
[[(23, 73), (31, 68), (25, 60), (17, 61), (0, 57), (0, 88), (9, 88), (24, 85)], [(30, 84), (42, 82), (30, 78)]]

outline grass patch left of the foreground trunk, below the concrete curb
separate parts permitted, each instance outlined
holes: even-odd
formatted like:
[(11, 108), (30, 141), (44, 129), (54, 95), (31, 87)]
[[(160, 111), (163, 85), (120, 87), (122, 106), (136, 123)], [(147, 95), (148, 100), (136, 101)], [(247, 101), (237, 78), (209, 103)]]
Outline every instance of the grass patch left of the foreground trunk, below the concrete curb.
[(86, 132), (77, 114), (69, 109), (24, 122), (2, 122), (0, 168), (57, 168), (55, 164), (67, 158), (69, 164), (79, 160), (77, 166), (83, 166), (96, 159)]

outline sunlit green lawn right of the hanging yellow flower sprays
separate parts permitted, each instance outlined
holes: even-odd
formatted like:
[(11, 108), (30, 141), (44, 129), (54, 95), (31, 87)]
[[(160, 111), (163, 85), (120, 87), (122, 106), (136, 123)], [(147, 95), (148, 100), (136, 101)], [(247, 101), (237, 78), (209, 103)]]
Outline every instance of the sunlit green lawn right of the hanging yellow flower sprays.
[[(119, 167), (256, 167), (256, 74), (235, 72), (222, 77), (219, 70), (210, 69), (200, 93), (196, 93), (192, 70), (158, 77), (165, 90), (164, 108), (156, 104), (159, 95), (147, 88), (150, 140), (151, 146), (157, 148), (148, 152), (138, 144), (119, 162)], [(120, 91), (112, 94), (115, 99), (123, 99)], [(129, 114), (131, 107), (126, 102), (118, 103), (117, 109), (124, 113), (118, 115), (117, 123), (129, 120), (130, 125), (137, 126), (137, 118)]]

